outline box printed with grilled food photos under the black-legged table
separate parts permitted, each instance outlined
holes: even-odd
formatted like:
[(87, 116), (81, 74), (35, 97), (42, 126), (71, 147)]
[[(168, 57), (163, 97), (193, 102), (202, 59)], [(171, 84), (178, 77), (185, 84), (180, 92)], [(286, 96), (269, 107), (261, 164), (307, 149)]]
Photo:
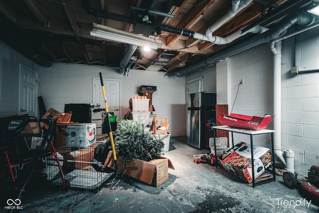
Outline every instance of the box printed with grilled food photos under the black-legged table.
[[(272, 166), (272, 158), (273, 156), (268, 148), (260, 146), (254, 147), (255, 180), (263, 174), (266, 169)], [(218, 157), (218, 161), (228, 172), (249, 184), (253, 182), (250, 144), (246, 144), (244, 142), (236, 144), (223, 155)]]

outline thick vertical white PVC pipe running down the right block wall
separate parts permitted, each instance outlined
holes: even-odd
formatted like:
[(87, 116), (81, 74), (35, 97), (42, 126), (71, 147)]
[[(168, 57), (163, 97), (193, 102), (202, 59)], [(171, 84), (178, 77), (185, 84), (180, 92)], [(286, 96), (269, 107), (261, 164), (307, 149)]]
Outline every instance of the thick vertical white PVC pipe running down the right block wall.
[(274, 146), (277, 161), (286, 167), (281, 147), (281, 48), (282, 42), (278, 41), (275, 43), (275, 48), (272, 49), (274, 52), (274, 129), (276, 131), (274, 133)]

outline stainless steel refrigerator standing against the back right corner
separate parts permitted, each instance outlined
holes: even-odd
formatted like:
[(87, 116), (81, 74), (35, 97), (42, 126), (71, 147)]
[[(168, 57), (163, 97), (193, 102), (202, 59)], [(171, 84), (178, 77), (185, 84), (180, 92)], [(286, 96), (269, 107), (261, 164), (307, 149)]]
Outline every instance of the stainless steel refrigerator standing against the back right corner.
[(205, 105), (216, 104), (216, 93), (198, 92), (187, 95), (187, 144), (197, 149), (205, 147)]

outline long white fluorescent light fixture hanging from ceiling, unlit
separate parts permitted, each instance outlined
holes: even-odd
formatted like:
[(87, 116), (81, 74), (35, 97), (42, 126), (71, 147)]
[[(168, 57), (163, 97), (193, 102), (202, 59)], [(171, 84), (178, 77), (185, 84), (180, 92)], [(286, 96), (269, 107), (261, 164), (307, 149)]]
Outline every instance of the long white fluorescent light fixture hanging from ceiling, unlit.
[(155, 38), (148, 38), (142, 35), (126, 32), (97, 23), (93, 23), (93, 29), (91, 30), (90, 35), (99, 38), (105, 38), (107, 40), (134, 44), (143, 47), (148, 46), (152, 49), (160, 48), (161, 44), (161, 42), (159, 40), (156, 40)]

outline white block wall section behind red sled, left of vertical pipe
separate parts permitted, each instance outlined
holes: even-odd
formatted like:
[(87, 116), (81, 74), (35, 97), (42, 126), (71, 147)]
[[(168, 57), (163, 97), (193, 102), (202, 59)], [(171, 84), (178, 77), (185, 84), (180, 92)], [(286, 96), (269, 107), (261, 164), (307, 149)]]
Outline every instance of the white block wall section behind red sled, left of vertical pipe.
[[(273, 55), (269, 45), (249, 49), (227, 59), (230, 72), (229, 114), (250, 116), (273, 114)], [(221, 61), (219, 63), (224, 63)], [(217, 70), (217, 73), (219, 71)], [(243, 79), (244, 84), (239, 84)], [(217, 78), (217, 81), (219, 79)], [(238, 93), (238, 94), (237, 94)], [(237, 97), (236, 97), (237, 96)], [(269, 129), (273, 129), (270, 123)], [(250, 137), (233, 134), (234, 144), (240, 141), (250, 143)], [(271, 148), (271, 135), (254, 136), (254, 145)]]

